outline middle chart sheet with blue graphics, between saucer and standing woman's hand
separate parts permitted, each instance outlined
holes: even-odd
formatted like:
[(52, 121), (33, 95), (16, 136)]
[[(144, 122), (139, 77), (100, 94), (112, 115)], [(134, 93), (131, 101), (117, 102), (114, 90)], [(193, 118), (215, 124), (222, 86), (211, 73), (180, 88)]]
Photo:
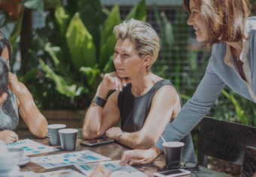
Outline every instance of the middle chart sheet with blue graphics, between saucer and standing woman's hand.
[(80, 152), (64, 153), (59, 155), (47, 155), (31, 158), (31, 161), (46, 169), (65, 167), (74, 164), (92, 163), (96, 161), (110, 161), (111, 158), (98, 155), (89, 150)]

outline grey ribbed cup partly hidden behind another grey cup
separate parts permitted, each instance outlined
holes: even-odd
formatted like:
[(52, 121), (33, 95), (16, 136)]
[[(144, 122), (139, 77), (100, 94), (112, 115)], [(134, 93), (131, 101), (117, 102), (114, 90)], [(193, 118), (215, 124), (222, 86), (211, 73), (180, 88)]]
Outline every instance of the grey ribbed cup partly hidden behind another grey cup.
[(67, 125), (64, 124), (52, 124), (47, 126), (50, 135), (50, 144), (52, 146), (61, 145), (61, 141), (59, 139), (59, 130), (65, 128), (66, 126)]

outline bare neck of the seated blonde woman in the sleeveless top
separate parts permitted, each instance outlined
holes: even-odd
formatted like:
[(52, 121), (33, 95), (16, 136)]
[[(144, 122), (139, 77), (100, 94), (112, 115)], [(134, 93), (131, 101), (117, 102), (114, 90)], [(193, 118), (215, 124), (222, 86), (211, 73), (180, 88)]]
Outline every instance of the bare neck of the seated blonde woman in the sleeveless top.
[(131, 81), (131, 93), (134, 96), (143, 95), (154, 85), (151, 72), (139, 72), (137, 75), (129, 77), (129, 80)]

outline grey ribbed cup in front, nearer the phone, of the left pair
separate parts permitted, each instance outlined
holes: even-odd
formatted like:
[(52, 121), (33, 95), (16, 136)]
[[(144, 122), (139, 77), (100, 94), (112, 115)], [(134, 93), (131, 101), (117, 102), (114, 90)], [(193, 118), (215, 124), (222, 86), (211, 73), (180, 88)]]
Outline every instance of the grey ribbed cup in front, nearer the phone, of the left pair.
[(64, 128), (59, 130), (59, 137), (63, 151), (74, 151), (77, 143), (77, 129)]

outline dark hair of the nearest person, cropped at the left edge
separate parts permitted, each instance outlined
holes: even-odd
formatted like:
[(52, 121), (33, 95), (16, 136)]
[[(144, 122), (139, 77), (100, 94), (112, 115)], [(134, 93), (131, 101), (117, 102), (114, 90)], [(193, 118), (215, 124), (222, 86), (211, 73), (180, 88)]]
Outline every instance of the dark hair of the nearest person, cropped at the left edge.
[(6, 92), (9, 84), (8, 78), (9, 66), (5, 59), (0, 57), (0, 96)]

